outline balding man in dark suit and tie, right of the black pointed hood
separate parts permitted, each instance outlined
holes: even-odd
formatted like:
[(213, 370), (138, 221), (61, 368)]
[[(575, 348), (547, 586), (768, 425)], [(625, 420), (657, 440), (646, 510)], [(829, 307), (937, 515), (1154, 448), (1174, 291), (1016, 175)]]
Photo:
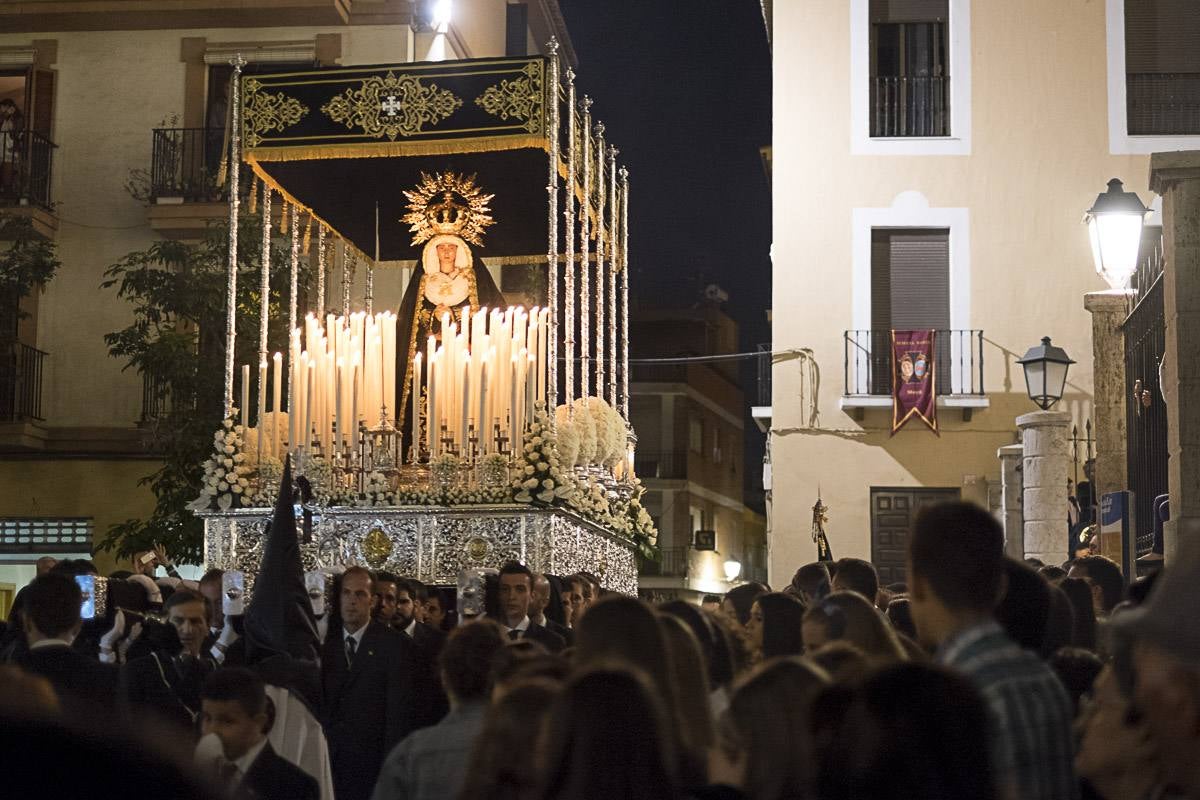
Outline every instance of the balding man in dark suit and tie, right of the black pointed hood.
[(388, 752), (416, 724), (415, 645), (371, 621), (372, 576), (342, 575), (342, 630), (322, 652), (324, 723), (337, 800), (367, 800)]

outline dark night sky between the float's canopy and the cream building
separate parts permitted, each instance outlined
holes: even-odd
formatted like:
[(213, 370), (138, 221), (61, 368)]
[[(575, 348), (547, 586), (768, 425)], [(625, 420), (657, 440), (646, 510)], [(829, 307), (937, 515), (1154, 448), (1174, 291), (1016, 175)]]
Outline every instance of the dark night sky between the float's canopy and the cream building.
[[(757, 0), (559, 0), (576, 85), (630, 170), (630, 294), (689, 307), (730, 295), (742, 349), (770, 339), (770, 52)], [(754, 361), (743, 389), (755, 403)], [(746, 479), (762, 435), (746, 411)], [(748, 495), (748, 501), (751, 498)]]

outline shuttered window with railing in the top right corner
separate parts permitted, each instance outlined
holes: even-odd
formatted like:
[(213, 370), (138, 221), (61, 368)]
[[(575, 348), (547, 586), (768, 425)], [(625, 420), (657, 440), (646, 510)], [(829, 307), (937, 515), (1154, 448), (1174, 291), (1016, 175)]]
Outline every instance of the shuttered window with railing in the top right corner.
[(1124, 25), (1129, 134), (1200, 134), (1195, 0), (1126, 0)]

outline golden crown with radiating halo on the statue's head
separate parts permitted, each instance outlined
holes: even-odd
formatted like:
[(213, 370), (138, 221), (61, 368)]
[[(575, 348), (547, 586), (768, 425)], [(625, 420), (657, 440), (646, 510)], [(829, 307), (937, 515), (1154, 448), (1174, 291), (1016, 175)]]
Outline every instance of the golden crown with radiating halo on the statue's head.
[(421, 173), (421, 182), (413, 191), (406, 191), (404, 197), (408, 198), (408, 213), (401, 222), (409, 224), (414, 245), (443, 234), (482, 245), (484, 229), (496, 224), (487, 205), (496, 196), (484, 194), (474, 175)]

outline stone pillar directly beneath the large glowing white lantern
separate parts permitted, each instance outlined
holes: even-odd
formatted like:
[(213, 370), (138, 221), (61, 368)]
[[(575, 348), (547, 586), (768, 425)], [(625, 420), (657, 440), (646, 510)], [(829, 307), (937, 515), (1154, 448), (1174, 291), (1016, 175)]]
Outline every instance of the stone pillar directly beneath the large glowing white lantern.
[(1096, 501), (1129, 488), (1126, 461), (1124, 331), (1127, 290), (1088, 291), (1084, 308), (1092, 313), (1092, 409), (1096, 422)]

